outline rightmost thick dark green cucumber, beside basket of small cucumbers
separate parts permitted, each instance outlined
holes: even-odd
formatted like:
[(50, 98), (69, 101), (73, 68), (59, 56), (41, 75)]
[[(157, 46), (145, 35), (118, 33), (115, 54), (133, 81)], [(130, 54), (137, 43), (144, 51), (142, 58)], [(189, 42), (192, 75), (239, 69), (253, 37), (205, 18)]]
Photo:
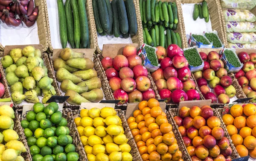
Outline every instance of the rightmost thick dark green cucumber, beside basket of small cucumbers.
[(128, 17), (128, 24), (129, 24), (129, 33), (132, 35), (137, 34), (137, 17), (136, 17), (136, 11), (135, 6), (133, 3), (133, 0), (125, 0), (125, 6), (127, 10), (127, 17)]

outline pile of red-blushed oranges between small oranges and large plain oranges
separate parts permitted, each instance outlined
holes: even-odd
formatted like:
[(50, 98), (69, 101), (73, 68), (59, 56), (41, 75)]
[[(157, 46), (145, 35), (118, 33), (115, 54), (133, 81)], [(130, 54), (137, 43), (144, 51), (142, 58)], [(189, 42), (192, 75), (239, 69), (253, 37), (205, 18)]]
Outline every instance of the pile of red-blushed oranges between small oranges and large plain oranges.
[(174, 119), (192, 161), (231, 161), (230, 141), (210, 106), (183, 106)]

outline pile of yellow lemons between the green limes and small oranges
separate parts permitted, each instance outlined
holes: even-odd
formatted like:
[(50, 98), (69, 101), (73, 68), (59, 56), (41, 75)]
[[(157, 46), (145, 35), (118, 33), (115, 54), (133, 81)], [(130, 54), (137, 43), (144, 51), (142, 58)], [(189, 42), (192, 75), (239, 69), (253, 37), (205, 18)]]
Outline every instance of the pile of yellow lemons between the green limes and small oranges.
[(81, 109), (74, 119), (88, 161), (132, 161), (131, 147), (115, 109)]

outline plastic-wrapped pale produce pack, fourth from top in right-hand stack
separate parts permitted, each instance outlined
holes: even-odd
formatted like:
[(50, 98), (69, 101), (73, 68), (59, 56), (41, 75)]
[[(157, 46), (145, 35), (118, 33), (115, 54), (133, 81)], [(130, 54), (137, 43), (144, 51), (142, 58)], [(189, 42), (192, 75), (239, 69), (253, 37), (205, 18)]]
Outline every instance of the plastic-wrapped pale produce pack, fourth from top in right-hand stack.
[(256, 43), (256, 34), (232, 32), (227, 33), (227, 41), (230, 43)]

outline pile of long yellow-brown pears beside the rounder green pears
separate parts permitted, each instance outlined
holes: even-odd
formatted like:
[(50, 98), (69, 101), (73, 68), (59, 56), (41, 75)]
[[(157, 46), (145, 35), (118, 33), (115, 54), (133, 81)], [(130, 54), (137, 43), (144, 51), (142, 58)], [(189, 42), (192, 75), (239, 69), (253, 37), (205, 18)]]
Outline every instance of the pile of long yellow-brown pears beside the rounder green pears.
[(65, 96), (70, 96), (67, 102), (80, 105), (81, 102), (99, 102), (103, 99), (101, 80), (98, 78), (94, 63), (84, 58), (84, 53), (74, 52), (65, 48), (60, 58), (53, 60), (56, 78)]

